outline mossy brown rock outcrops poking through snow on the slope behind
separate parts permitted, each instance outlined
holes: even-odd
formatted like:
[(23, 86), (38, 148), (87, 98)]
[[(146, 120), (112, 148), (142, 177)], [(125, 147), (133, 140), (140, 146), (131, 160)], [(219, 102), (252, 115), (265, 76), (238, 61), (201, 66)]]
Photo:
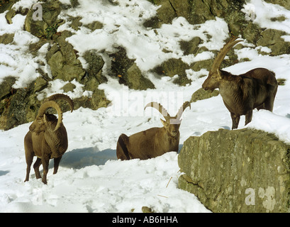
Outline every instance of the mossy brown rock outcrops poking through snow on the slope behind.
[[(45, 61), (39, 60), (38, 73), (41, 75), (34, 82), (31, 82), (26, 88), (13, 89), (15, 80), (7, 77), (0, 84), (0, 129), (10, 129), (22, 123), (33, 121), (40, 106), (40, 101), (36, 99), (37, 94), (43, 89), (49, 87), (49, 83), (55, 79), (61, 79), (64, 82), (72, 82), (74, 79), (84, 85), (84, 90), (92, 92), (91, 96), (82, 96), (74, 99), (75, 109), (83, 106), (91, 109), (106, 107), (109, 101), (106, 99), (104, 91), (99, 90), (99, 84), (107, 81), (106, 77), (118, 79), (120, 84), (125, 84), (130, 89), (154, 89), (155, 85), (146, 77), (145, 72), (142, 72), (134, 59), (130, 59), (126, 49), (122, 46), (116, 47), (116, 52), (95, 52), (88, 50), (84, 55), (79, 56), (79, 53), (74, 50), (73, 46), (66, 40), (73, 35), (74, 31), (78, 31), (82, 26), (89, 28), (90, 31), (101, 29), (104, 24), (100, 21), (93, 21), (89, 24), (83, 24), (80, 16), (69, 16), (68, 18), (60, 18), (62, 11), (70, 7), (77, 10), (79, 2), (70, 0), (70, 4), (63, 4), (63, 1), (51, 0), (42, 2), (43, 20), (33, 20), (33, 9), (20, 7), (14, 9), (13, 4), (18, 0), (1, 1), (0, 13), (6, 11), (7, 23), (13, 23), (14, 16), (19, 13), (26, 16), (24, 29), (35, 37), (40, 38), (38, 43), (30, 45), (28, 52), (33, 56), (38, 57), (40, 48), (43, 45), (48, 45)], [(272, 50), (270, 55), (289, 54), (290, 43), (286, 42), (283, 35), (286, 33), (274, 29), (260, 28), (253, 21), (248, 21), (245, 18), (245, 13), (242, 12), (245, 0), (230, 1), (230, 0), (148, 0), (152, 4), (160, 6), (157, 13), (152, 18), (148, 18), (143, 23), (148, 29), (160, 28), (164, 23), (172, 23), (174, 18), (182, 16), (189, 23), (197, 25), (208, 20), (214, 20), (217, 17), (223, 18), (228, 23), (229, 36), (241, 35), (247, 42), (268, 47)], [(286, 9), (289, 9), (289, 1), (286, 0), (266, 0), (266, 2), (280, 4)], [(3, 3), (3, 4), (2, 4)], [(116, 1), (110, 1), (110, 4), (118, 4)], [(66, 21), (65, 21), (66, 20)], [(271, 18), (272, 21), (284, 21), (284, 16)], [(57, 28), (65, 22), (71, 22), (67, 31), (57, 32)], [(14, 34), (11, 32), (0, 35), (0, 43), (3, 45), (13, 45)], [(192, 40), (181, 40), (179, 45), (184, 55), (198, 55), (203, 51), (208, 51), (204, 47), (199, 47), (203, 40), (199, 37), (194, 37)], [(238, 45), (235, 49), (238, 48)], [(164, 50), (165, 52), (166, 50)], [(217, 50), (213, 50), (216, 55)], [(263, 54), (263, 53), (261, 53)], [(87, 62), (88, 67), (84, 67), (80, 58)], [(244, 59), (245, 60), (245, 59)], [(106, 62), (106, 63), (105, 63)], [(186, 70), (194, 70), (199, 72), (201, 69), (210, 70), (213, 59), (200, 60), (188, 65), (182, 60), (182, 57), (171, 58), (160, 65), (151, 69), (157, 77), (174, 77), (174, 83), (184, 86), (191, 83), (186, 75)], [(228, 52), (228, 59), (224, 60), (222, 67), (228, 67), (238, 62), (237, 56), (233, 50)], [(47, 72), (44, 72), (43, 67), (47, 65), (51, 72), (51, 77)], [(105, 67), (104, 67), (105, 65)], [(177, 77), (176, 77), (177, 75)], [(65, 87), (69, 91), (69, 87)], [(72, 89), (72, 87), (70, 87)], [(18, 96), (21, 96), (20, 99)], [(199, 90), (194, 94), (192, 101), (203, 99), (208, 94), (204, 94)], [(16, 99), (17, 98), (17, 99)], [(17, 100), (22, 100), (21, 109)], [(15, 102), (16, 101), (16, 102)], [(13, 115), (9, 114), (13, 113)]]

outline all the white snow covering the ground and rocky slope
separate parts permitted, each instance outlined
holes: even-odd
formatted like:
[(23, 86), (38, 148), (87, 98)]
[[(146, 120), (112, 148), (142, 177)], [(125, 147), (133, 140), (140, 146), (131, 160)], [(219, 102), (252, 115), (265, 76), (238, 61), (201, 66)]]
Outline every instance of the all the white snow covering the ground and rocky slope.
[[(21, 0), (18, 5), (22, 3), (30, 8), (35, 2)], [(23, 138), (30, 123), (0, 131), (0, 212), (141, 212), (142, 206), (149, 206), (156, 212), (208, 212), (194, 194), (178, 189), (177, 181), (182, 173), (179, 172), (177, 153), (167, 153), (150, 160), (121, 161), (116, 159), (116, 142), (121, 133), (132, 135), (147, 128), (161, 127), (158, 111), (144, 111), (145, 104), (159, 101), (169, 114), (175, 115), (182, 103), (189, 101), (201, 87), (205, 77), (199, 78), (199, 75), (207, 74), (206, 70), (188, 70), (191, 84), (179, 87), (169, 77), (157, 79), (147, 70), (171, 57), (182, 57), (184, 62), (213, 57), (211, 52), (184, 56), (179, 41), (199, 36), (204, 41), (201, 45), (208, 50), (219, 50), (228, 38), (228, 27), (221, 18), (200, 26), (192, 26), (184, 18), (176, 18), (172, 24), (164, 25), (155, 32), (142, 24), (145, 19), (154, 16), (156, 6), (145, 0), (119, 0), (118, 6), (105, 2), (79, 0), (78, 11), (62, 11), (62, 18), (68, 15), (83, 16), (81, 22), (84, 24), (96, 20), (104, 24), (103, 29), (93, 33), (82, 26), (79, 31), (73, 31), (75, 34), (67, 40), (79, 51), (81, 60), (86, 50), (113, 51), (116, 46), (123, 46), (128, 57), (136, 59), (136, 64), (152, 80), (156, 89), (135, 91), (108, 78), (106, 84), (99, 86), (112, 101), (108, 108), (97, 111), (80, 108), (65, 113), (69, 148), (62, 157), (57, 175), (52, 175), (53, 161), (50, 161), (47, 185), (35, 179), (33, 170), (30, 181), (23, 182), (26, 175)], [(290, 26), (290, 12), (277, 5), (252, 0), (245, 6), (249, 15), (257, 12), (256, 23), (272, 28), (272, 23), (262, 23), (261, 19), (262, 16), (267, 17), (265, 12), (270, 9), (276, 14), (282, 13), (286, 17), (284, 23)], [(38, 58), (27, 52), (28, 45), (36, 42), (37, 38), (22, 30), (23, 16), (13, 18), (11, 25), (6, 23), (4, 16), (5, 13), (0, 14), (0, 35), (13, 31), (16, 36), (13, 44), (0, 44), (0, 79), (13, 75), (18, 78), (15, 88), (25, 87), (39, 76), (35, 73)], [(279, 26), (275, 28), (286, 29), (284, 24)], [(59, 29), (72, 28), (65, 23)], [(206, 33), (211, 38), (208, 39)], [(225, 70), (241, 74), (255, 67), (266, 67), (276, 73), (277, 79), (287, 79), (284, 86), (279, 86), (273, 113), (254, 111), (253, 120), (247, 127), (274, 133), (280, 140), (290, 143), (290, 55), (259, 55), (261, 47), (251, 48), (246, 41), (243, 44), (245, 48), (235, 51), (239, 59), (246, 56), (250, 61), (240, 62)], [(40, 50), (39, 56), (45, 61), (43, 53), (45, 47)], [(82, 62), (85, 64), (84, 60)], [(49, 73), (47, 65), (44, 67), (45, 72)], [(59, 80), (52, 82), (49, 89), (40, 93), (40, 97), (62, 92), (60, 87), (63, 85), (58, 84), (64, 83)], [(69, 96), (75, 97), (84, 92), (87, 91), (77, 84), (74, 94)], [(85, 94), (89, 95), (88, 92)], [(243, 121), (245, 117), (241, 117), (239, 128), (244, 127)], [(218, 128), (231, 128), (230, 114), (221, 96), (196, 101), (191, 104), (191, 109), (184, 111), (179, 147), (182, 148), (184, 140), (191, 135), (202, 135)]]

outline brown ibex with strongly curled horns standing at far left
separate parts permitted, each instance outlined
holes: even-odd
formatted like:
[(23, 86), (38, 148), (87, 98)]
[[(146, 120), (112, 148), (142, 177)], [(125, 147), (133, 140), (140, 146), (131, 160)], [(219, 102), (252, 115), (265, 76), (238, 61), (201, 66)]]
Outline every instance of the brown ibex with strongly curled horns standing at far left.
[[(43, 102), (38, 110), (35, 121), (30, 125), (29, 131), (24, 138), (24, 149), (26, 154), (26, 179), (29, 180), (30, 166), (33, 157), (36, 156), (33, 168), (35, 177), (41, 178), (39, 167), (43, 164), (43, 183), (47, 184), (48, 164), (50, 159), (54, 159), (54, 172), (57, 173), (62, 155), (67, 150), (67, 131), (62, 123), (62, 109), (55, 102), (57, 99), (64, 99), (69, 103), (71, 111), (74, 109), (74, 103), (69, 96), (64, 94), (55, 94)], [(46, 109), (54, 108), (57, 110), (58, 119), (53, 114), (45, 114)]]

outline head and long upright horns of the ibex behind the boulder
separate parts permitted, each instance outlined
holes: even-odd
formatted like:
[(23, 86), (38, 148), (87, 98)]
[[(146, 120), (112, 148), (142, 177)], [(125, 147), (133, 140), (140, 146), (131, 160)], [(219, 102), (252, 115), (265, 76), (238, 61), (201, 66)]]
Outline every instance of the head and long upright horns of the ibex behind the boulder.
[(228, 53), (228, 51), (233, 48), (233, 46), (242, 40), (236, 40), (238, 37), (231, 38), (228, 43), (225, 43), (223, 48), (218, 52), (218, 55), (216, 55), (215, 60), (213, 61), (213, 66), (211, 67), (211, 70), (208, 72), (208, 77), (202, 84), (202, 88), (205, 90), (211, 90), (219, 87), (219, 84), (221, 80), (223, 79), (223, 72), (220, 70), (221, 62), (223, 62), (223, 59), (225, 58), (225, 55)]

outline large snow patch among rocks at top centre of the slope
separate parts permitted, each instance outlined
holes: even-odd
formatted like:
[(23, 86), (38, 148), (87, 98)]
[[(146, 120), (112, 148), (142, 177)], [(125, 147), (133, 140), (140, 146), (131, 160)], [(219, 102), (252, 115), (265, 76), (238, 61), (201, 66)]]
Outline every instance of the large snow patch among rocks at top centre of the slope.
[[(113, 52), (116, 47), (122, 46), (126, 49), (128, 57), (135, 59), (142, 71), (150, 70), (169, 58), (182, 57), (180, 40), (189, 41), (199, 36), (204, 41), (201, 46), (205, 46), (208, 50), (219, 50), (223, 47), (223, 40), (228, 35), (227, 23), (221, 18), (206, 21), (200, 26), (193, 26), (185, 18), (179, 17), (174, 18), (172, 24), (164, 24), (158, 29), (147, 29), (142, 25), (147, 18), (155, 15), (157, 9), (152, 4), (148, 5), (148, 1), (120, 1), (119, 6), (103, 5), (100, 1), (94, 1), (93, 4), (81, 4), (79, 9), (79, 11), (70, 10), (67, 15), (82, 16), (80, 22), (84, 24), (94, 21), (104, 24), (104, 29), (91, 32), (88, 28), (81, 28), (67, 38), (81, 56), (87, 50)], [(60, 26), (58, 31), (64, 29), (67, 29), (66, 23)], [(219, 33), (218, 37), (208, 40), (208, 36), (216, 33)], [(186, 62), (212, 57), (208, 53), (205, 57), (205, 54)]]

